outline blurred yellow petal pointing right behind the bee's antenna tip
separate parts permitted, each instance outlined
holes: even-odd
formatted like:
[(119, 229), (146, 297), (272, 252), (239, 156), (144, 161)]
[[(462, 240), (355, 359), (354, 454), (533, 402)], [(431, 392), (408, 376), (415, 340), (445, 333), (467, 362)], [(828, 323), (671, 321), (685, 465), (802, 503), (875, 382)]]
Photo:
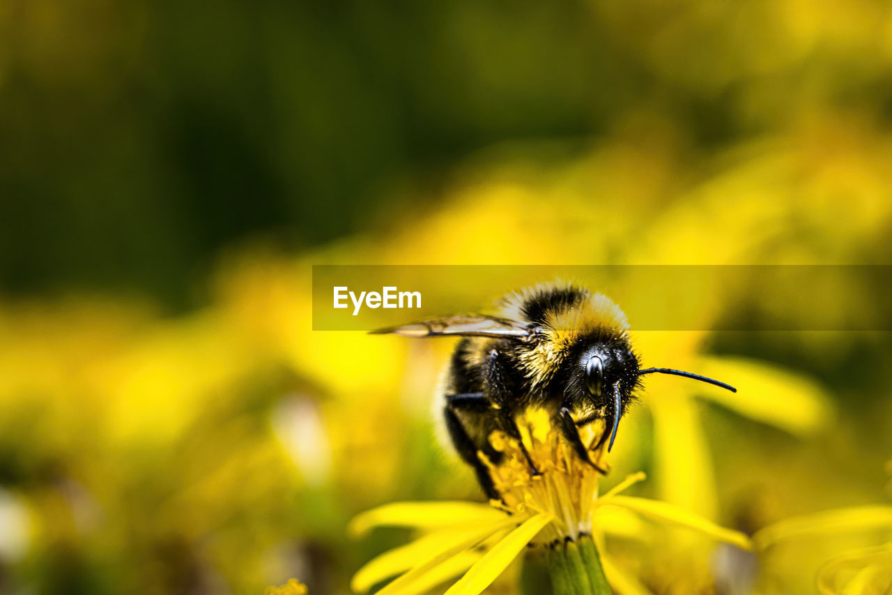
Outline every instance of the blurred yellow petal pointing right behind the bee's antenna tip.
[(833, 418), (832, 399), (821, 385), (775, 365), (743, 357), (704, 356), (697, 372), (737, 389), (735, 393), (703, 384), (701, 396), (791, 434), (814, 432)]

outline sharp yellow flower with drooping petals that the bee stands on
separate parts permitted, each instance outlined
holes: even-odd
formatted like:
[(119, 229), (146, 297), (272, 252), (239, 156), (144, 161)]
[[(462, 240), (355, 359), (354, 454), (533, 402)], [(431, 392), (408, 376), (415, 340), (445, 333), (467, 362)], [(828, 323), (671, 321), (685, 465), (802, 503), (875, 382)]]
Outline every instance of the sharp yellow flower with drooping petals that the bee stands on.
[[(603, 551), (604, 534), (622, 533), (626, 528), (624, 523), (615, 522), (616, 509), (750, 549), (750, 542), (742, 533), (665, 502), (620, 495), (643, 480), (644, 473), (630, 475), (599, 496), (601, 473), (597, 467), (605, 465), (605, 446), (592, 445), (599, 443), (603, 423), (582, 429), (582, 439), (590, 445), (589, 463), (559, 432), (553, 431), (549, 420), (546, 412), (531, 410), (518, 420), (521, 440), (502, 432), (491, 434), (491, 445), (502, 456), (497, 464), (480, 453), (500, 494), (500, 499), (492, 500), (488, 506), (471, 502), (401, 502), (355, 517), (349, 527), (354, 536), (384, 525), (411, 527), (422, 534), (416, 541), (385, 552), (360, 568), (351, 582), (353, 591), (368, 591), (399, 575), (378, 591), (379, 595), (424, 593), (463, 574), (446, 593), (476, 595), (531, 545), (562, 553), (555, 564), (566, 565), (566, 573), (586, 582), (589, 590), (584, 592), (607, 592), (595, 588), (596, 582), (604, 581), (603, 567), (607, 580), (617, 591), (638, 595), (647, 591), (633, 577), (623, 574)], [(526, 460), (524, 448), (535, 471)], [(549, 565), (555, 580), (555, 565)], [(607, 588), (606, 582), (604, 587)]]

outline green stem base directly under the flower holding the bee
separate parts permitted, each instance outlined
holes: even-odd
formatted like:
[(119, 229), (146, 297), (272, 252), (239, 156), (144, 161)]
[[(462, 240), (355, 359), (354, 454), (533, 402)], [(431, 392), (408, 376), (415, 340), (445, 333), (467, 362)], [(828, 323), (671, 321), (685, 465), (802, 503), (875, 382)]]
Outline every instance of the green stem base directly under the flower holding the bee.
[(549, 553), (555, 595), (610, 595), (598, 550), (591, 537), (555, 544)]

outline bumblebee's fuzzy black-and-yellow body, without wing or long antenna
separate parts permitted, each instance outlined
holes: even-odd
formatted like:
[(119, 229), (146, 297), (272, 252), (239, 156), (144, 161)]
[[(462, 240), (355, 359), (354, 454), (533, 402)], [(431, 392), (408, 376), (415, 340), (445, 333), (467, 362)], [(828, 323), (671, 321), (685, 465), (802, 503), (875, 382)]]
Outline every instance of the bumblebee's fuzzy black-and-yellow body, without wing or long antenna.
[[(567, 440), (578, 442), (577, 426), (613, 413), (614, 386), (621, 396), (616, 414), (622, 416), (635, 399), (640, 365), (627, 329), (599, 323), (602, 313), (592, 307), (599, 303), (592, 297), (570, 285), (538, 286), (509, 297), (512, 318), (528, 326), (528, 339), (464, 337), (456, 345), (438, 398), (453, 445), (475, 467), (491, 498), (497, 495), (478, 455), (482, 451), (498, 462), (491, 432), (516, 437), (517, 417), (541, 408)], [(577, 320), (578, 326), (572, 324)], [(605, 390), (599, 394), (586, 385), (586, 363), (594, 356), (603, 362)]]

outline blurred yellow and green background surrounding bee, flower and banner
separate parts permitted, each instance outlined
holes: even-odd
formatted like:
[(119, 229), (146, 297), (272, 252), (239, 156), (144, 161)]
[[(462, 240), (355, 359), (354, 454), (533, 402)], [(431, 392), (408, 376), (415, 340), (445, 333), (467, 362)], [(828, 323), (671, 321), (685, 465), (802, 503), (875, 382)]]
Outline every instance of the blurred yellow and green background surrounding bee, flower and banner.
[[(0, 592), (348, 592), (405, 539), (352, 515), (481, 497), (449, 341), (311, 331), (311, 264), (889, 264), (890, 129), (879, 0), (0, 0)], [(892, 341), (808, 331), (888, 328), (845, 288), (642, 333), (757, 362), (752, 400), (655, 379), (607, 481), (747, 531), (888, 504)], [(809, 593), (888, 537), (612, 547), (656, 593)]]

